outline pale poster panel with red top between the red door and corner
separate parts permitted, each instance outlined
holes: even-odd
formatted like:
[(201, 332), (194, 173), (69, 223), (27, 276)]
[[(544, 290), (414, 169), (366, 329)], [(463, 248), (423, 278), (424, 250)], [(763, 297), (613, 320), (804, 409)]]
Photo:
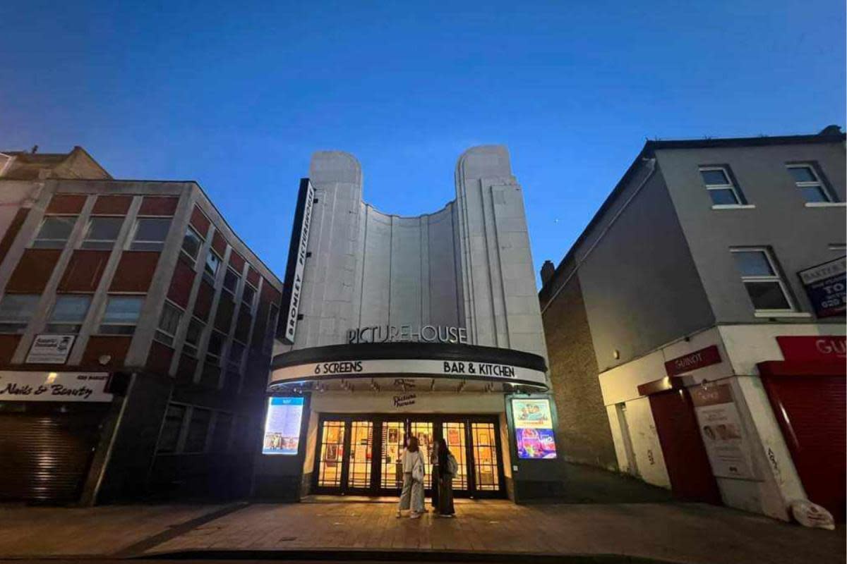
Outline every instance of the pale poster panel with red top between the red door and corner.
[(711, 473), (721, 478), (756, 479), (732, 390), (726, 384), (693, 387), (691, 402), (706, 446)]

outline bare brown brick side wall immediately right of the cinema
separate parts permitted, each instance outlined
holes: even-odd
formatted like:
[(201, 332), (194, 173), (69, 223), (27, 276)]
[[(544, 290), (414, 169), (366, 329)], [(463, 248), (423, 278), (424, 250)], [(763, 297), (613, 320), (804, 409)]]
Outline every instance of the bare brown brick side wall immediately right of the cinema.
[(567, 461), (617, 470), (612, 431), (597, 378), (597, 360), (577, 277), (542, 315), (559, 428)]

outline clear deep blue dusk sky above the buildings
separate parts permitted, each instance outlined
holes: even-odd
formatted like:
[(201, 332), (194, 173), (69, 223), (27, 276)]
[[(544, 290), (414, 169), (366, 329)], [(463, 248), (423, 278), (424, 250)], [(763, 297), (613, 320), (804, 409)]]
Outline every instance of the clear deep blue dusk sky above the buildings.
[(507, 145), (536, 271), (645, 138), (844, 125), (842, 0), (25, 2), (0, 19), (0, 150), (86, 148), (115, 178), (194, 179), (276, 273), (313, 151), (401, 215)]

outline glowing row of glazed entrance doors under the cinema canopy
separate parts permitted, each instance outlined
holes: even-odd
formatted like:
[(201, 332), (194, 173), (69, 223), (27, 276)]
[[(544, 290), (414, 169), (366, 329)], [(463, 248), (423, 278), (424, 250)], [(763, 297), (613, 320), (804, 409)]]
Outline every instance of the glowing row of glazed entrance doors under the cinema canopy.
[(409, 435), (418, 437), (427, 461), (426, 490), (432, 487), (433, 443), (443, 437), (459, 466), (453, 479), (456, 496), (505, 496), (497, 419), (464, 415), (321, 417), (314, 491), (397, 495), (403, 484), (400, 454)]

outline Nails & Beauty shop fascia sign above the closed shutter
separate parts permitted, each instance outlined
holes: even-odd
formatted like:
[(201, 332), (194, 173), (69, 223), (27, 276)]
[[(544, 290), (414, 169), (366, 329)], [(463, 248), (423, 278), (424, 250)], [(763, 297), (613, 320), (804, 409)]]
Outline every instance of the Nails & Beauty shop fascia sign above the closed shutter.
[(0, 402), (111, 402), (105, 372), (0, 372)]

